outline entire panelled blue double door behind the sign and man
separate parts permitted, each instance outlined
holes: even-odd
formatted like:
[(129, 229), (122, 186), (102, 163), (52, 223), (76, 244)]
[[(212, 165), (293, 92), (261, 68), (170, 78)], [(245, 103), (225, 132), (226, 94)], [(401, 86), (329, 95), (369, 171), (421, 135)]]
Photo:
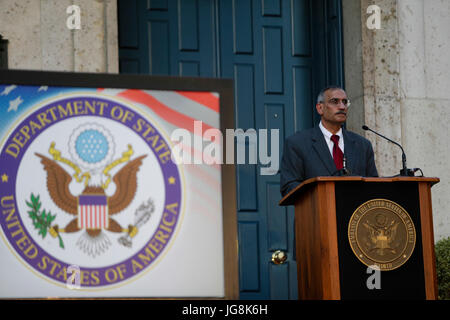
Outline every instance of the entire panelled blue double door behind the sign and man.
[[(340, 17), (339, 0), (119, 0), (120, 72), (234, 79), (236, 128), (279, 129), (281, 158), (284, 138), (317, 122), (320, 88), (343, 84)], [(236, 169), (240, 297), (296, 299), (279, 174)]]

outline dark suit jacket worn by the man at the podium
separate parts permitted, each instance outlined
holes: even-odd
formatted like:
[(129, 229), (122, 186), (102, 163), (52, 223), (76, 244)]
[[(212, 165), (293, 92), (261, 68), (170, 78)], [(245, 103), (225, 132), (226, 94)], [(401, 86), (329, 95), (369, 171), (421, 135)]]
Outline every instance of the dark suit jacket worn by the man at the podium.
[[(346, 168), (353, 176), (377, 177), (372, 144), (366, 138), (345, 129)], [(299, 131), (284, 143), (280, 166), (280, 191), (285, 196), (302, 181), (318, 176), (336, 175), (337, 169), (322, 131), (315, 128)]]

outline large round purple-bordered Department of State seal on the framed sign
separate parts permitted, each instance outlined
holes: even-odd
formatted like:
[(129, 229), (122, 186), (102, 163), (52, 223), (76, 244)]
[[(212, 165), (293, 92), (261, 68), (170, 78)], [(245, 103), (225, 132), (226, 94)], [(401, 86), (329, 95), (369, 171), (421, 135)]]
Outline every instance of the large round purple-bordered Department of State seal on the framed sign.
[(123, 283), (162, 259), (182, 215), (182, 176), (154, 123), (114, 97), (53, 98), (0, 146), (1, 230), (31, 271), (83, 289)]

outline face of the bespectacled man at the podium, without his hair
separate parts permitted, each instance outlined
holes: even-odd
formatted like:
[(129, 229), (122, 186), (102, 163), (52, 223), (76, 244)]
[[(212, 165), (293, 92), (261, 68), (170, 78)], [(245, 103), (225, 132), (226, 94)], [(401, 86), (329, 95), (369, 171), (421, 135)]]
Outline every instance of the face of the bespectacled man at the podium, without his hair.
[(342, 125), (347, 120), (348, 111), (348, 107), (343, 101), (348, 101), (345, 91), (340, 89), (325, 91), (323, 102), (316, 105), (322, 122)]

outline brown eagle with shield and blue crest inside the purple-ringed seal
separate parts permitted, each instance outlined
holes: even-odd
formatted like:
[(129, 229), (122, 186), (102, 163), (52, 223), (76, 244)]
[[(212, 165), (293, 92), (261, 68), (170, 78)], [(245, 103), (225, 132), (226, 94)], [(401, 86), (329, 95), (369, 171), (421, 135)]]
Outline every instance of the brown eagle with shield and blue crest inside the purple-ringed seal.
[[(131, 247), (131, 239), (137, 234), (139, 226), (145, 223), (154, 211), (151, 199), (143, 203), (135, 212), (134, 224), (121, 226), (115, 216), (120, 215), (132, 202), (137, 189), (137, 173), (147, 155), (133, 156), (133, 148), (122, 153), (119, 159), (112, 161), (114, 142), (110, 133), (98, 124), (82, 125), (70, 138), (69, 150), (74, 161), (63, 158), (51, 143), (49, 153), (52, 158), (35, 153), (40, 158), (47, 174), (47, 190), (54, 204), (73, 219), (63, 228), (57, 224), (49, 226), (52, 237), (61, 239), (62, 233), (83, 231), (77, 246), (87, 255), (96, 257), (105, 252), (111, 241), (104, 230), (125, 234), (119, 243)], [(64, 169), (70, 167), (71, 175)], [(110, 171), (121, 164), (113, 176)], [(69, 185), (83, 183), (81, 194), (71, 193)], [(106, 189), (113, 184), (115, 192), (108, 196)]]

